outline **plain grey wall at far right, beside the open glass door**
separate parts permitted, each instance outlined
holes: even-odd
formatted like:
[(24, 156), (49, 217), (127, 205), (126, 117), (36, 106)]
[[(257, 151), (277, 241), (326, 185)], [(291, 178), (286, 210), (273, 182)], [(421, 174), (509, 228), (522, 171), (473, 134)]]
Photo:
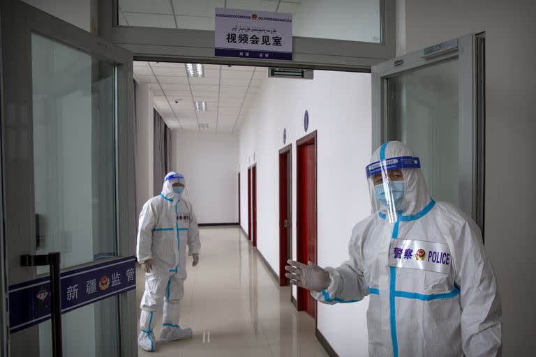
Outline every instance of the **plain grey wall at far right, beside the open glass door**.
[(398, 55), (486, 31), (485, 248), (502, 298), (503, 354), (530, 356), (536, 350), (536, 2), (405, 0), (404, 10)]

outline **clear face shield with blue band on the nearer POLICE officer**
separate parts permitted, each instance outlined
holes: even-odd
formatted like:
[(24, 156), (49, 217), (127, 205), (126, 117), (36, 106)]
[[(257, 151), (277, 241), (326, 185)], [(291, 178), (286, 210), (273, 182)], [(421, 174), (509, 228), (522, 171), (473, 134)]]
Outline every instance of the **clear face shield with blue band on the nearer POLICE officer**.
[(388, 158), (368, 165), (366, 176), (373, 213), (391, 223), (396, 222), (402, 214), (405, 197), (403, 169), (419, 167), (419, 158), (412, 156)]

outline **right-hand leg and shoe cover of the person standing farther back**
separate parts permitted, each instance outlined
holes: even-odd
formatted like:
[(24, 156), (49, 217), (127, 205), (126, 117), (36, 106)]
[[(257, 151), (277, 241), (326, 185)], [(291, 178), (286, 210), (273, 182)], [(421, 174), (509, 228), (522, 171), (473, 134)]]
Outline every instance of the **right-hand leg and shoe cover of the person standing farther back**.
[(168, 280), (160, 335), (160, 339), (163, 341), (182, 340), (193, 335), (191, 328), (183, 329), (179, 326), (181, 300), (184, 296), (184, 280), (186, 279), (178, 273), (171, 275), (170, 280)]

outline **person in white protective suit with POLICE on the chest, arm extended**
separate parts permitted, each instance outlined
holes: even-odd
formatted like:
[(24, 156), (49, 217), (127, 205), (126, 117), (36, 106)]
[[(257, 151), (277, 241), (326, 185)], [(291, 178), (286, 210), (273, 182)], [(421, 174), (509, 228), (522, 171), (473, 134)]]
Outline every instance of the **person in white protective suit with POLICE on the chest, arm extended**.
[(354, 227), (348, 261), (288, 261), (287, 278), (322, 303), (368, 295), (370, 356), (500, 356), (501, 306), (479, 227), (429, 196), (401, 142), (375, 151), (366, 173), (374, 213)]

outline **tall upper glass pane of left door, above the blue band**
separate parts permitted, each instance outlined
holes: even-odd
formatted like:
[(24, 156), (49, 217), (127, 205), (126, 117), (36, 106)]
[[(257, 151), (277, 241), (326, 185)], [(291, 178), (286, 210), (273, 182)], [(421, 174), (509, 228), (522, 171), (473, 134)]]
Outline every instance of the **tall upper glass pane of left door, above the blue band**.
[(113, 257), (114, 66), (35, 34), (31, 50), (37, 253)]

